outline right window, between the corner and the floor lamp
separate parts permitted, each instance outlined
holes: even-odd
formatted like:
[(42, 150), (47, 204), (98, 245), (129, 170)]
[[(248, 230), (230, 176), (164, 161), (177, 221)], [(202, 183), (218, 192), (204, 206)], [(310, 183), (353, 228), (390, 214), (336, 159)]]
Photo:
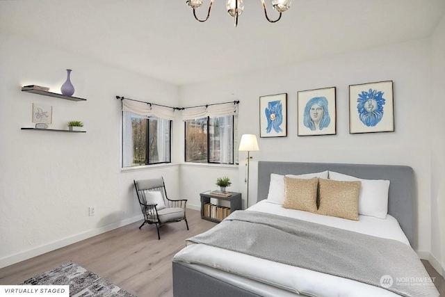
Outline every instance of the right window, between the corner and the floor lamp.
[(234, 115), (186, 120), (186, 162), (234, 163)]

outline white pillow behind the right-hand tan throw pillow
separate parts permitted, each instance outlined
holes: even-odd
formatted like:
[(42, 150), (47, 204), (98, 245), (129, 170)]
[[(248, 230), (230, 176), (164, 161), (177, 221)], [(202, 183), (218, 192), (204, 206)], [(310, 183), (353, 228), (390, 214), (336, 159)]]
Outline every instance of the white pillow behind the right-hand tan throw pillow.
[(389, 180), (359, 179), (334, 171), (329, 172), (329, 178), (337, 181), (362, 182), (359, 193), (359, 214), (375, 218), (387, 217)]

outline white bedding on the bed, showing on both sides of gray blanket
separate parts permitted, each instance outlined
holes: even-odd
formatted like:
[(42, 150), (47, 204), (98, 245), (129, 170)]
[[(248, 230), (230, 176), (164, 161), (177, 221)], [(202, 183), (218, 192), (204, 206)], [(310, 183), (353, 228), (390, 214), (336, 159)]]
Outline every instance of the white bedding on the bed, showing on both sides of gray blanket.
[[(262, 200), (248, 210), (268, 212), (298, 218), (353, 232), (395, 239), (409, 245), (405, 234), (392, 216), (386, 219), (359, 216), (358, 221), (321, 216), (306, 211), (283, 209), (280, 204)], [(228, 259), (230, 259), (228, 261)], [(191, 244), (175, 255), (180, 262), (197, 271), (224, 279), (237, 287), (248, 289), (261, 296), (339, 296), (373, 297), (398, 296), (397, 294), (362, 282), (318, 273), (304, 268), (270, 262), (238, 252), (213, 248), (202, 244)], [(261, 285), (258, 285), (261, 284)], [(278, 291), (282, 293), (278, 294)]]

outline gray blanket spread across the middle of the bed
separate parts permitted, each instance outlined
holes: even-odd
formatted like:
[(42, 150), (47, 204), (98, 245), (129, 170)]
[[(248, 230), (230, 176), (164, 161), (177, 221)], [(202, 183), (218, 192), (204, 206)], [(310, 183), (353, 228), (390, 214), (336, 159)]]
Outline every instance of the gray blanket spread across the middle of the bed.
[(349, 278), (401, 296), (439, 296), (416, 252), (391, 239), (257, 211), (235, 211), (188, 241)]

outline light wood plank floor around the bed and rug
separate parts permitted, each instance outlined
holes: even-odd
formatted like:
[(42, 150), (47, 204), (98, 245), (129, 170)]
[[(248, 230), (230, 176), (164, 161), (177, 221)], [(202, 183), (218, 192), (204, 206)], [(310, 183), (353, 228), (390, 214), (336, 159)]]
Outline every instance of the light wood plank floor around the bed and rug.
[[(156, 227), (138, 227), (141, 222), (74, 243), (44, 255), (0, 269), (0, 284), (19, 284), (65, 262), (72, 261), (140, 297), (171, 297), (172, 262), (184, 241), (216, 225), (202, 220), (200, 211), (187, 209), (184, 221), (164, 225), (158, 241)], [(445, 280), (423, 261), (428, 273), (445, 296)]]

